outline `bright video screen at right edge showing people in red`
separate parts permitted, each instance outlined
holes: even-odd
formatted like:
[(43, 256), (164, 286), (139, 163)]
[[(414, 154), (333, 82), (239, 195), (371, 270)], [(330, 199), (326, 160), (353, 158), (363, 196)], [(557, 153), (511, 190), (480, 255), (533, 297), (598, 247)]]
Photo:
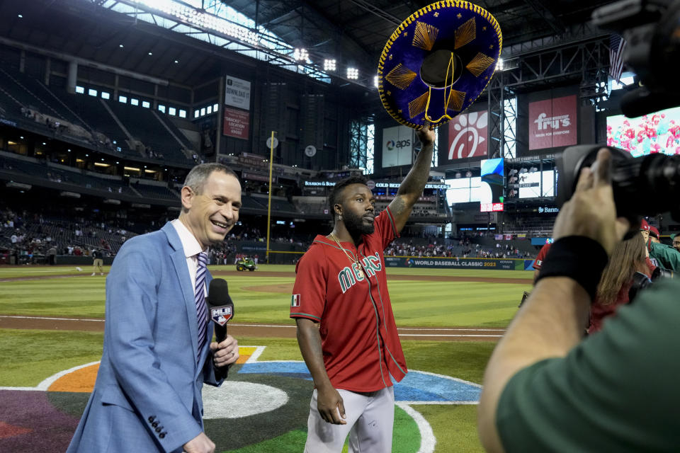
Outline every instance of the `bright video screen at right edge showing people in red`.
[(607, 145), (624, 149), (633, 157), (680, 154), (680, 107), (637, 118), (607, 117)]

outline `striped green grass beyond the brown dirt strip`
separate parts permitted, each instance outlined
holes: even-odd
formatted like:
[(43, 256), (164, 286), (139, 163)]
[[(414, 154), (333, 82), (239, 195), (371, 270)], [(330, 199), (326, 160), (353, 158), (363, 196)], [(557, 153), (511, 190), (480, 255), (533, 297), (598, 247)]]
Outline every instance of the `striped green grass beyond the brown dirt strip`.
[[(264, 267), (264, 266), (263, 266)], [(232, 266), (215, 266), (232, 270)], [(293, 266), (276, 268), (281, 277), (256, 273), (230, 276), (229, 293), (235, 302), (234, 321), (288, 323)], [(44, 272), (43, 272), (44, 271)], [(516, 274), (525, 284), (459, 281), (390, 280), (387, 287), (399, 326), (504, 327), (516, 312), (523, 291), (531, 289), (531, 273), (499, 270), (388, 269), (390, 275), (448, 275), (497, 277)], [(83, 275), (68, 268), (0, 268), (0, 278), (71, 273), (77, 276), (45, 280), (0, 282), (0, 314), (103, 318), (105, 277)], [(79, 274), (79, 275), (78, 275)], [(276, 288), (275, 288), (276, 286)]]

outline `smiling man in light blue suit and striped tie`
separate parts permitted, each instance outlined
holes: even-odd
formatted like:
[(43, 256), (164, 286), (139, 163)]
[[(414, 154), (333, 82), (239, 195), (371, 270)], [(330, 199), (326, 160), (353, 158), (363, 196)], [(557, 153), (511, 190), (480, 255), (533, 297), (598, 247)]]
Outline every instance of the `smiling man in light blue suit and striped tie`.
[(106, 327), (96, 384), (68, 453), (214, 452), (203, 432), (203, 383), (239, 358), (212, 342), (205, 295), (208, 246), (239, 219), (241, 185), (221, 164), (186, 177), (179, 219), (120, 248), (106, 279)]

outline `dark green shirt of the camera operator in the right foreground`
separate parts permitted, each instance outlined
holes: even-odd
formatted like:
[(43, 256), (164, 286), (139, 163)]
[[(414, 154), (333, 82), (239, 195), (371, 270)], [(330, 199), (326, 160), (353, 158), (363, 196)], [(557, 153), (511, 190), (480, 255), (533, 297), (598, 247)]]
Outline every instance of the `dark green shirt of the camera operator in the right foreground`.
[(680, 282), (640, 293), (563, 359), (517, 372), (497, 428), (512, 452), (680, 451)]

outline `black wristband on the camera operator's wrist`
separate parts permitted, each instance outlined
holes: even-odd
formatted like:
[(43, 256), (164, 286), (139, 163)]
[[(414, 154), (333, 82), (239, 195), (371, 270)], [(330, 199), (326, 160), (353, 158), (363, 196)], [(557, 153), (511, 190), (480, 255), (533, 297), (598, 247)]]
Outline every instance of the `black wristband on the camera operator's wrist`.
[(544, 277), (570, 277), (593, 300), (608, 260), (607, 252), (598, 241), (585, 236), (567, 236), (550, 246), (536, 282)]

